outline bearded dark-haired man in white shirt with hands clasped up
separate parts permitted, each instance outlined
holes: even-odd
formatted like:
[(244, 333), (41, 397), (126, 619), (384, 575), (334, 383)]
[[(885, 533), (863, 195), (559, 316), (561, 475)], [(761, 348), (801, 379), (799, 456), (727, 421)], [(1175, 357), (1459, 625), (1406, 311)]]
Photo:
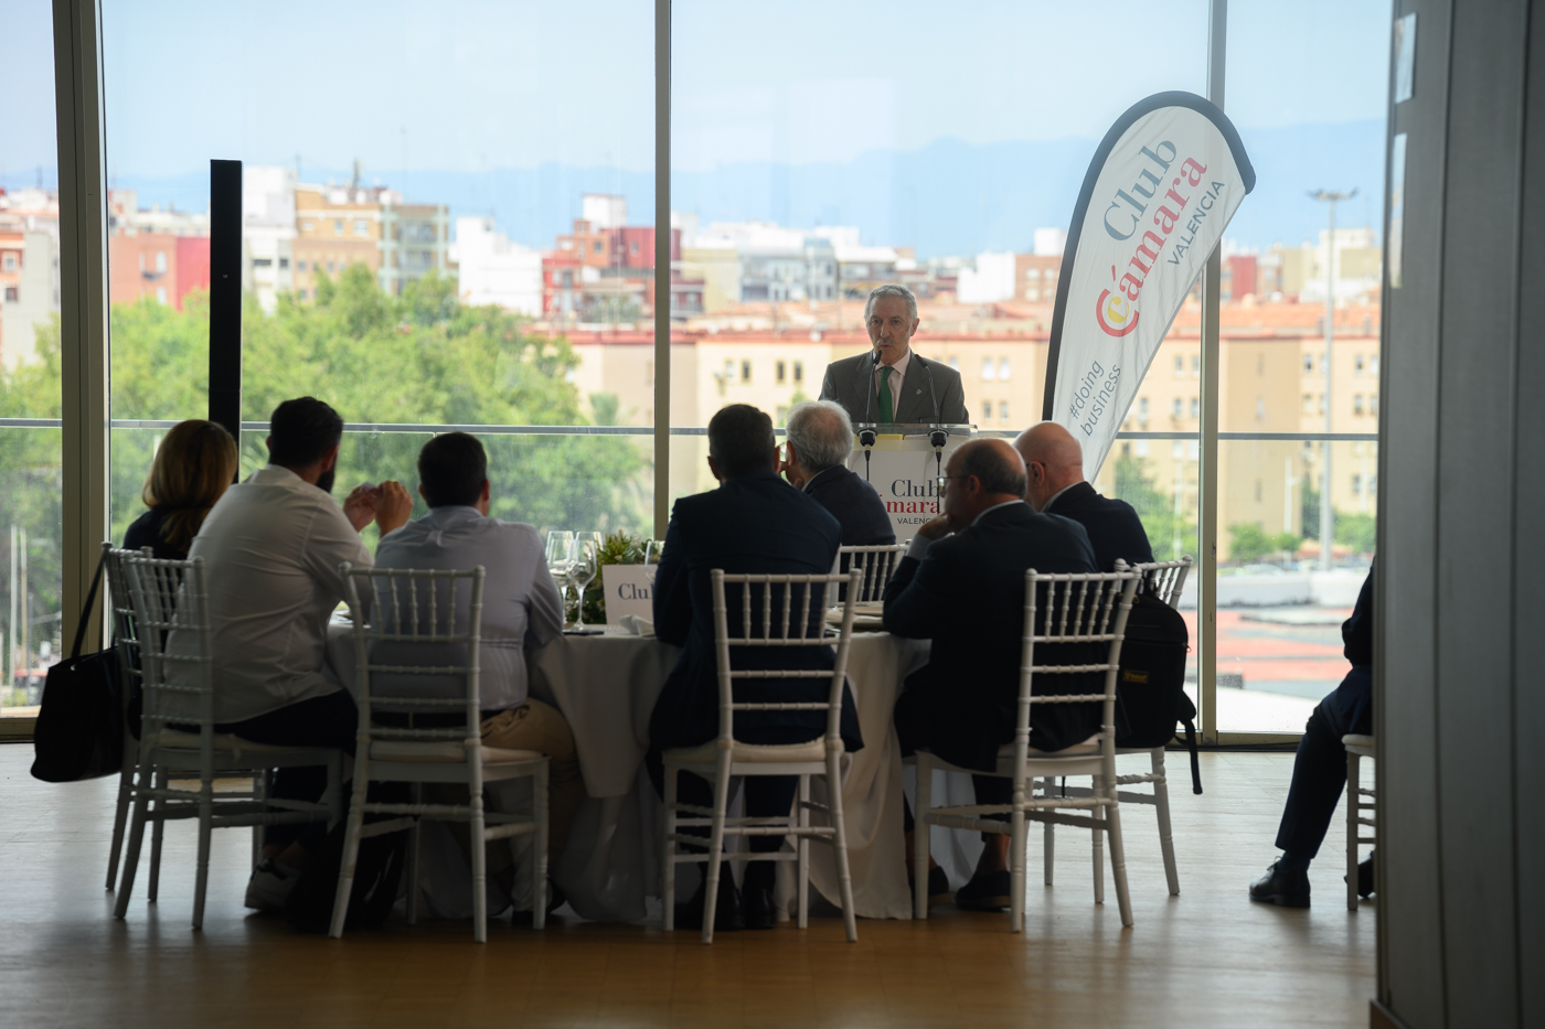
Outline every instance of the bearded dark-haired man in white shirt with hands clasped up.
[[(338, 564), (371, 567), (360, 530), (382, 535), (408, 521), (413, 501), (397, 482), (355, 488), (343, 508), (332, 481), (343, 419), (315, 397), (286, 400), (269, 422), (269, 465), (226, 490), (188, 558), (202, 558), (215, 630), (215, 729), (255, 743), (354, 752), (354, 698), (326, 664), (328, 618), (343, 599)], [(176, 650), (192, 641), (176, 633)], [(192, 674), (192, 666), (182, 666)], [(272, 796), (318, 800), (326, 769), (284, 768)], [(318, 822), (270, 825), (247, 907), (280, 907), (297, 871), (317, 853)]]

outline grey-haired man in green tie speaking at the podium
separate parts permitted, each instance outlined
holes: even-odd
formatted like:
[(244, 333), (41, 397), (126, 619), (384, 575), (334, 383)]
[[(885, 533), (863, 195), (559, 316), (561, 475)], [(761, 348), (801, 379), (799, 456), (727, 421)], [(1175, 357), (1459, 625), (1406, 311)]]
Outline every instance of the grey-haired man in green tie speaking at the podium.
[(876, 286), (864, 304), (874, 349), (827, 365), (820, 399), (834, 400), (854, 425), (964, 425), (961, 374), (912, 352), (918, 298), (905, 286)]

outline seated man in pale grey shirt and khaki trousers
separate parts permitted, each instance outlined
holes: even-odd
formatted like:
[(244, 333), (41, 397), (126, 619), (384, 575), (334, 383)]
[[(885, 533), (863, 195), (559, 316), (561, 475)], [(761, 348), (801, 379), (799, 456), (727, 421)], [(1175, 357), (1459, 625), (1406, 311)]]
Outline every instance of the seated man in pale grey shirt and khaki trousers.
[[(473, 569), (484, 567), (482, 646), (479, 649), (479, 703), (482, 742), (514, 751), (539, 751), (548, 757), (548, 868), (556, 868), (584, 800), (584, 779), (573, 734), (564, 715), (527, 695), (527, 650), (558, 638), (564, 607), (547, 570), (542, 539), (524, 522), (488, 518), (488, 456), (477, 437), (443, 433), (419, 451), (419, 494), (430, 513), (411, 521), (375, 548), (379, 569)], [(377, 604), (389, 604), (385, 586)], [(396, 660), (396, 658), (386, 658)], [(422, 686), (419, 692), (422, 692)], [(374, 697), (374, 692), (372, 692)], [(377, 715), (385, 720), (389, 715)], [(414, 715), (414, 725), (442, 718), (464, 725), (462, 714)], [(465, 803), (467, 791), (447, 786), (447, 803)], [(450, 828), (470, 848), (462, 822)], [(487, 848), (488, 876), (508, 893), (514, 884), (510, 847), (493, 841)], [(553, 891), (553, 898), (561, 895)]]

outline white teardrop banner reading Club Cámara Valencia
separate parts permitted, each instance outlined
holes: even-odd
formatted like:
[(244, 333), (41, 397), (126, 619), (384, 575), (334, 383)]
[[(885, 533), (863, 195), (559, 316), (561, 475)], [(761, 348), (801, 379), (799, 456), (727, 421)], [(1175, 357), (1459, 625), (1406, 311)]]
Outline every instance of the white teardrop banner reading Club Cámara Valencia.
[(1156, 93), (1100, 141), (1068, 227), (1041, 413), (1083, 445), (1088, 477), (1253, 188), (1233, 122), (1194, 93)]

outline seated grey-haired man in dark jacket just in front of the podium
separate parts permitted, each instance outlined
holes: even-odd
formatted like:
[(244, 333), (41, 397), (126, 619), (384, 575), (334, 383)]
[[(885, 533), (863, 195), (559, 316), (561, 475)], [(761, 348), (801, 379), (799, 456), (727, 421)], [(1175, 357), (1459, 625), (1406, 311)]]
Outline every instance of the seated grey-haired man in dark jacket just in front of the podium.
[(830, 400), (797, 403), (788, 413), (788, 457), (783, 474), (789, 484), (831, 511), (842, 525), (844, 547), (878, 547), (896, 542), (879, 490), (848, 470), (853, 453), (853, 422), (842, 405)]

